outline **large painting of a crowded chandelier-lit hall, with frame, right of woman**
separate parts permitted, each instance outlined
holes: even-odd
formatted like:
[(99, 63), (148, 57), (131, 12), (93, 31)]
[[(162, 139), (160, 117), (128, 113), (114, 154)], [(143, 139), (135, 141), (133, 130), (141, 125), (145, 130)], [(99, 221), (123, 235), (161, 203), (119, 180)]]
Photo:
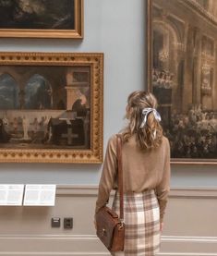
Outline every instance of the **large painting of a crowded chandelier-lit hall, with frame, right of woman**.
[(147, 1), (148, 89), (172, 163), (217, 164), (217, 1)]

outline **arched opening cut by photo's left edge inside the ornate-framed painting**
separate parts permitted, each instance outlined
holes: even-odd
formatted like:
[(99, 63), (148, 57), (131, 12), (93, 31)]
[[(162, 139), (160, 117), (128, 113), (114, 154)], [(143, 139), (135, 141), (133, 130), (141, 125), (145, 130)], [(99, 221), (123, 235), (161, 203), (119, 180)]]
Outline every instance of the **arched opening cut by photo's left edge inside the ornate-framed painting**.
[(18, 84), (11, 75), (0, 75), (0, 109), (18, 109), (18, 92)]

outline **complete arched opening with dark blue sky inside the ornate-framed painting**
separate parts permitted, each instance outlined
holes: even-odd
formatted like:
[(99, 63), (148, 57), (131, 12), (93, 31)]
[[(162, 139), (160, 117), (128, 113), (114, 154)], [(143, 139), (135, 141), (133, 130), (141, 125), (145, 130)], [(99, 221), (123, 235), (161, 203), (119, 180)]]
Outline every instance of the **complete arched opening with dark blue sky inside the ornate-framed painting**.
[(41, 75), (33, 75), (25, 86), (25, 108), (51, 109), (52, 106), (51, 84)]

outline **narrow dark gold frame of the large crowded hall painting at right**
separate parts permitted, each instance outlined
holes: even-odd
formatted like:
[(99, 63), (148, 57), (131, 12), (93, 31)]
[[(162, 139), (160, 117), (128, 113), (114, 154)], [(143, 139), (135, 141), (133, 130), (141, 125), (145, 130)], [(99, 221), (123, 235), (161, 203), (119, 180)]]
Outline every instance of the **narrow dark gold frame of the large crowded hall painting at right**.
[[(145, 72), (148, 91), (152, 91), (151, 87), (151, 71), (152, 71), (152, 3), (153, 0), (146, 0), (146, 58)], [(172, 158), (171, 164), (184, 165), (217, 165), (216, 159), (187, 159), (187, 158)]]

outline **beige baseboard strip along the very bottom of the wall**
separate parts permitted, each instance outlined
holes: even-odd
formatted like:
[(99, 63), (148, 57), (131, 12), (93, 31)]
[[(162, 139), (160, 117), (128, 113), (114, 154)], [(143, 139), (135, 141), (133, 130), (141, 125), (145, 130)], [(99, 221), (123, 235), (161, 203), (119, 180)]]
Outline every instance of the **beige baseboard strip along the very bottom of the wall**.
[[(34, 246), (30, 247), (28, 245)], [(95, 235), (83, 235), (83, 236), (55, 236), (55, 235), (43, 235), (43, 236), (0, 236), (0, 244), (5, 245), (6, 248), (10, 248), (9, 245), (13, 244), (12, 250), (5, 250), (1, 246), (0, 255), (30, 255), (30, 256), (65, 256), (65, 255), (96, 255), (107, 256), (110, 255), (103, 248)], [(85, 248), (84, 245), (85, 244)], [(178, 236), (163, 236), (162, 247), (166, 244), (170, 248), (182, 247), (184, 251), (175, 252), (161, 252), (160, 255), (166, 256), (217, 256), (217, 237), (178, 237)], [(39, 246), (40, 245), (40, 246)], [(58, 245), (55, 247), (54, 245)], [(185, 246), (184, 246), (185, 245)], [(23, 250), (16, 250), (16, 248), (22, 248)], [(38, 250), (35, 250), (35, 249)], [(40, 248), (42, 250), (40, 250)], [(90, 248), (94, 249), (90, 251)], [(192, 252), (187, 251), (189, 248), (194, 250)], [(209, 252), (206, 252), (207, 248), (210, 248)], [(80, 250), (82, 249), (82, 250)], [(86, 249), (86, 250), (85, 250)]]

